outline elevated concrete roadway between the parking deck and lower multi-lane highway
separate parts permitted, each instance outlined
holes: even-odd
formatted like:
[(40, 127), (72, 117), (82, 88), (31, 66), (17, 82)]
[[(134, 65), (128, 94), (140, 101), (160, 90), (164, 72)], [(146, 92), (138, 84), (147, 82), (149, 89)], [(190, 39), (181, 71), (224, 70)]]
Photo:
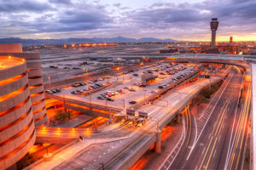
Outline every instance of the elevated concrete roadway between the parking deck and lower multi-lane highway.
[[(212, 82), (218, 81), (218, 79), (219, 77), (212, 77)], [(175, 116), (175, 113), (179, 111), (180, 107), (183, 104), (186, 104), (193, 95), (198, 93), (201, 88), (207, 86), (209, 83), (210, 81), (208, 79), (201, 79), (197, 82), (190, 83), (189, 85), (184, 86), (183, 88), (178, 88), (171, 94), (166, 95), (166, 97), (160, 100), (158, 103), (143, 107), (141, 111), (146, 110), (152, 117), (158, 117), (157, 119), (159, 120), (160, 125), (170, 122), (172, 117)], [(115, 169), (116, 166), (121, 165), (122, 161), (128, 159), (128, 156), (133, 154), (134, 150), (140, 147), (148, 150), (150, 146), (144, 147), (143, 144), (148, 140), (152, 140), (152, 142), (154, 142), (156, 127), (157, 122), (156, 120), (152, 119), (148, 120), (143, 127), (129, 129), (133, 131), (130, 134), (127, 133), (129, 130), (126, 128), (108, 133), (108, 135), (105, 135), (104, 137), (102, 136), (103, 138), (98, 136), (96, 140), (98, 142), (102, 141), (102, 144), (92, 144), (87, 149), (81, 147), (81, 149), (73, 151), (76, 153), (74, 156), (71, 156), (72, 154), (69, 154), (70, 156), (66, 156), (64, 153), (60, 152), (55, 156), (56, 158), (53, 163), (49, 162), (48, 165), (42, 162), (32, 169), (47, 169), (45, 166), (51, 166), (53, 169), (98, 169), (102, 168), (101, 163), (104, 164), (105, 169)], [(47, 133), (49, 136), (55, 136), (55, 132)], [(128, 135), (124, 135), (125, 133)], [(108, 139), (115, 138), (117, 134), (119, 134), (118, 136), (120, 137), (124, 135), (126, 138), (113, 142), (107, 142)], [(86, 136), (84, 135), (84, 137)], [(92, 142), (94, 141), (94, 139), (86, 140)], [(71, 148), (72, 147), (74, 146), (71, 146)], [(93, 155), (91, 153), (93, 153)], [(61, 162), (61, 160), (58, 160), (58, 158), (60, 157), (60, 159), (63, 159), (61, 158), (63, 155), (67, 157), (67, 159), (65, 159), (66, 161), (56, 163)]]

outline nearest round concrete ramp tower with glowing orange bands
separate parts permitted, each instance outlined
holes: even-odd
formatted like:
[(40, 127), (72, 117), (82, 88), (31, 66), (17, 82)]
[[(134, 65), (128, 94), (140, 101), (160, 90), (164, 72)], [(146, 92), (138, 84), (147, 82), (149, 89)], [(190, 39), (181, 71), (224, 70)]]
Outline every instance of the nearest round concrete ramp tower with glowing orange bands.
[(36, 139), (26, 59), (0, 57), (0, 169), (26, 155)]

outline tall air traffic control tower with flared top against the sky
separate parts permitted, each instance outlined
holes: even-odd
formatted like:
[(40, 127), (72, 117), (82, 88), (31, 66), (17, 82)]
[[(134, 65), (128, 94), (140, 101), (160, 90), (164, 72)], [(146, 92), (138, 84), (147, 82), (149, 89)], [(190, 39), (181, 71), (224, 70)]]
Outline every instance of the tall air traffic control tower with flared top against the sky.
[(218, 54), (218, 48), (215, 47), (216, 43), (216, 31), (218, 29), (218, 18), (212, 18), (212, 21), (210, 22), (211, 30), (212, 30), (212, 42), (210, 49), (208, 51), (209, 54)]

